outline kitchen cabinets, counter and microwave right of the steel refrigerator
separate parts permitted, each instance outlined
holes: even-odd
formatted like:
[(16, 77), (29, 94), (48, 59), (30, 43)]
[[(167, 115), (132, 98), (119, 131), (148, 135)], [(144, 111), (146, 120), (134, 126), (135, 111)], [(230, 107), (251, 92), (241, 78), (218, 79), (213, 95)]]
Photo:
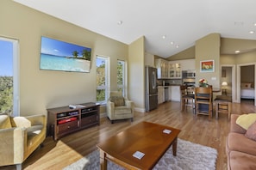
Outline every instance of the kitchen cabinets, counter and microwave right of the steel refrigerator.
[(195, 59), (168, 61), (155, 60), (157, 68), (158, 104), (166, 101), (180, 101), (180, 85), (195, 87)]

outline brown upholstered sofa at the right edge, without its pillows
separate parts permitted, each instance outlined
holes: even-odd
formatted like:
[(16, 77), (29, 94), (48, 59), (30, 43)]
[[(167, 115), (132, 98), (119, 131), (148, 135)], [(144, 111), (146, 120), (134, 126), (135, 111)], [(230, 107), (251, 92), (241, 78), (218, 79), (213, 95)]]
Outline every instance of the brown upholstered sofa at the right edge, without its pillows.
[[(226, 143), (228, 170), (256, 169), (256, 141), (247, 137), (249, 129), (246, 130), (237, 124), (239, 117), (240, 115), (231, 114), (230, 131)], [(255, 124), (252, 125), (254, 127), (249, 126), (254, 128), (253, 133), (256, 132)]]

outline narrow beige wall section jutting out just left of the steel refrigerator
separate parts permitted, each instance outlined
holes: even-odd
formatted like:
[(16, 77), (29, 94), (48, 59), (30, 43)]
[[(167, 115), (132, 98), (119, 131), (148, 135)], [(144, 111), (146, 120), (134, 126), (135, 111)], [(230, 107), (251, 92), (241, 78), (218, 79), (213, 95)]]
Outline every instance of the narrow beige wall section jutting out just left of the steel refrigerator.
[(144, 36), (129, 45), (128, 50), (128, 98), (135, 103), (135, 110), (145, 111)]

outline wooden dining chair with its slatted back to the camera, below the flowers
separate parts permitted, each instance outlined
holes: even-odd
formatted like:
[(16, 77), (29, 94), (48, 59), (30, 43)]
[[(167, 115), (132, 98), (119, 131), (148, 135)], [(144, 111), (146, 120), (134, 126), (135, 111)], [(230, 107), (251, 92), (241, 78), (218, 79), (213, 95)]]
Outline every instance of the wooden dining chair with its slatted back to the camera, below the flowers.
[(208, 115), (212, 117), (212, 86), (208, 88), (197, 87), (195, 89), (196, 114)]

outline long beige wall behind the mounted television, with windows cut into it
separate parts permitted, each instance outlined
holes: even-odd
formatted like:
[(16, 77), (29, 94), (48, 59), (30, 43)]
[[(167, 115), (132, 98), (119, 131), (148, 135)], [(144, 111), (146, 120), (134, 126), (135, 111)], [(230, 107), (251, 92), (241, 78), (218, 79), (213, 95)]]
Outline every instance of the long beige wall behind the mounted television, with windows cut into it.
[[(0, 1), (0, 36), (20, 46), (21, 115), (55, 106), (96, 101), (96, 55), (110, 58), (110, 89), (116, 89), (116, 61), (128, 60), (128, 45), (9, 0)], [(41, 36), (92, 48), (90, 73), (40, 70)]]

